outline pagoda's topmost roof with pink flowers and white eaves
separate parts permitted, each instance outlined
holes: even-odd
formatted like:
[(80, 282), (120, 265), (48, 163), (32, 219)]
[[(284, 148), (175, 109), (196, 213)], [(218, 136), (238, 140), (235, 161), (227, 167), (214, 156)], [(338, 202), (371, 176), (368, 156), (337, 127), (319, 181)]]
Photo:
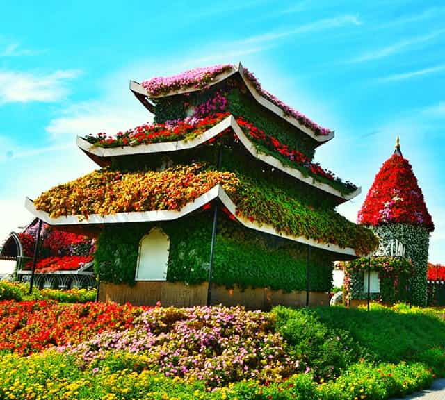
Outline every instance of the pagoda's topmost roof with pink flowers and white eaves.
[(257, 78), (241, 63), (191, 69), (174, 76), (152, 78), (143, 81), (141, 84), (130, 81), (130, 90), (150, 112), (154, 113), (155, 106), (149, 99), (196, 92), (235, 75), (241, 76), (250, 94), (261, 106), (272, 111), (289, 124), (296, 126), (300, 131), (316, 140), (318, 144), (323, 144), (334, 138), (334, 131), (319, 126), (316, 122), (287, 106), (273, 94), (261, 88)]

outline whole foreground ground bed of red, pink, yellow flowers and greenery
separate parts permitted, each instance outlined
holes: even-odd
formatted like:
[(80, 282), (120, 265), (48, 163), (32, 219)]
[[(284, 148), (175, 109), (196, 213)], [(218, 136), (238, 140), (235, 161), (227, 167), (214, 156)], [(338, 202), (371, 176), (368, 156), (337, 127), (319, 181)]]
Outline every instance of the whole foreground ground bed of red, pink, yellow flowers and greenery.
[(406, 306), (3, 301), (0, 324), (2, 399), (387, 399), (445, 375), (442, 315)]

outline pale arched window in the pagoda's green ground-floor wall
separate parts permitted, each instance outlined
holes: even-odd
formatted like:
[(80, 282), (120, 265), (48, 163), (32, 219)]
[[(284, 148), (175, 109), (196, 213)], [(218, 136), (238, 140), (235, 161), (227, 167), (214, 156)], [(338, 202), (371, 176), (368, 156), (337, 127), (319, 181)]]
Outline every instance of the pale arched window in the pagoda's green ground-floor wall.
[(170, 239), (159, 228), (153, 228), (139, 242), (136, 281), (165, 281), (167, 278)]

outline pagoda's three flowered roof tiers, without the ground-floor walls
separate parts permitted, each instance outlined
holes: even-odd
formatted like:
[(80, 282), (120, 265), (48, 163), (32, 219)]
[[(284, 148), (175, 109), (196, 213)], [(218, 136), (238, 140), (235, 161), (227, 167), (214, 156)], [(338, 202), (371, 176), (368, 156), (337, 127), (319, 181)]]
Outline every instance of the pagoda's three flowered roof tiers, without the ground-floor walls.
[(241, 64), (130, 88), (154, 123), (78, 138), (104, 168), (28, 200), (40, 219), (95, 234), (104, 224), (177, 219), (218, 198), (257, 231), (346, 257), (375, 247), (369, 231), (334, 211), (359, 188), (313, 162), (333, 131), (263, 90)]

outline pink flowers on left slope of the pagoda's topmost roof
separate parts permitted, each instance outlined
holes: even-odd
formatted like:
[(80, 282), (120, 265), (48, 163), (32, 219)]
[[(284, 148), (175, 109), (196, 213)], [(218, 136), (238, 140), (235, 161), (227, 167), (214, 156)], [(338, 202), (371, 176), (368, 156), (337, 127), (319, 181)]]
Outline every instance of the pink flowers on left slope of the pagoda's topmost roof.
[(157, 78), (149, 79), (141, 83), (147, 92), (152, 96), (159, 96), (160, 94), (167, 94), (172, 90), (179, 90), (182, 88), (205, 88), (211, 83), (214, 78), (233, 69), (233, 65), (213, 65), (212, 67), (203, 67), (189, 69), (186, 72), (173, 76), (159, 76)]

